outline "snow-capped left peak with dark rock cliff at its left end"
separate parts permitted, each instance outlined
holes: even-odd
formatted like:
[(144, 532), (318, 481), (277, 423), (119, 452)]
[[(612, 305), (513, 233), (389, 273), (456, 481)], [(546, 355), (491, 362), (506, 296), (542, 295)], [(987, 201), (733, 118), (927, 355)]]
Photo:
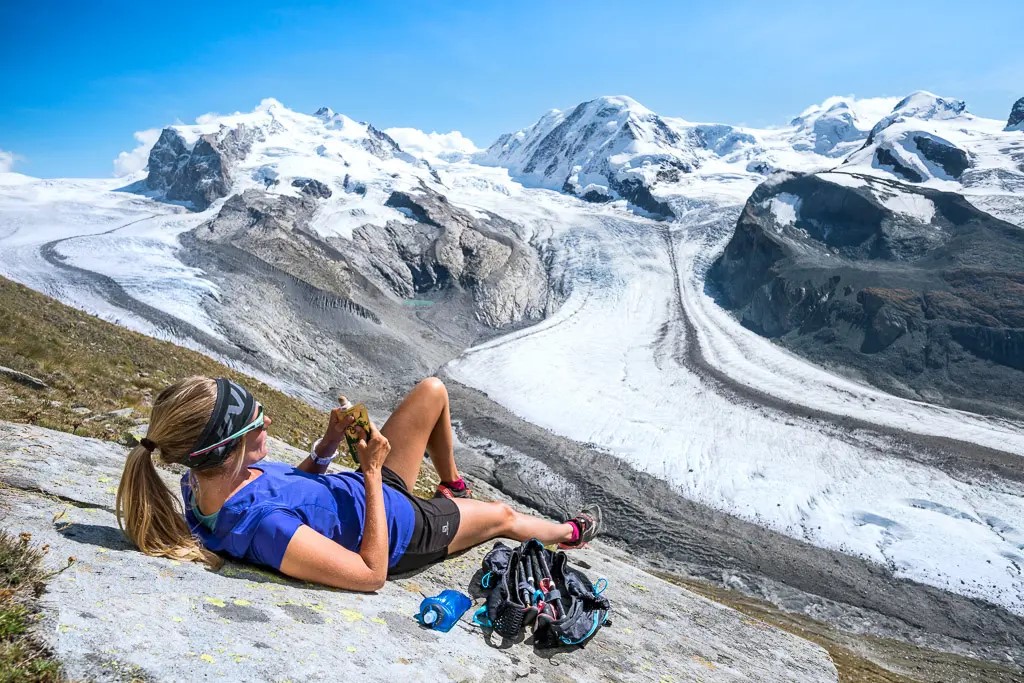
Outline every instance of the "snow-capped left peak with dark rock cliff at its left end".
[[(371, 124), (329, 108), (300, 114), (275, 99), (264, 99), (253, 112), (165, 128), (150, 152), (147, 171), (140, 189), (199, 210), (246, 189), (318, 194), (326, 202), (322, 213), (331, 216), (322, 224), (343, 234), (367, 222), (402, 219), (383, 207), (391, 191), (436, 185), (427, 162)], [(336, 210), (340, 206), (345, 209)]]

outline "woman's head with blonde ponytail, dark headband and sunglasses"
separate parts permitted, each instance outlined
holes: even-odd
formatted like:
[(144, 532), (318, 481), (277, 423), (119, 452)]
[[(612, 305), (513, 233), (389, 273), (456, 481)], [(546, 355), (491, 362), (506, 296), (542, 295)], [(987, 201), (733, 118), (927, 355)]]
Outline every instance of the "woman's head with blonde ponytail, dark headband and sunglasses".
[(160, 392), (146, 435), (128, 454), (118, 487), (115, 507), (125, 533), (147, 555), (218, 564), (193, 536), (153, 455), (185, 465), (203, 479), (238, 474), (266, 456), (269, 422), (255, 397), (229, 380), (189, 377)]

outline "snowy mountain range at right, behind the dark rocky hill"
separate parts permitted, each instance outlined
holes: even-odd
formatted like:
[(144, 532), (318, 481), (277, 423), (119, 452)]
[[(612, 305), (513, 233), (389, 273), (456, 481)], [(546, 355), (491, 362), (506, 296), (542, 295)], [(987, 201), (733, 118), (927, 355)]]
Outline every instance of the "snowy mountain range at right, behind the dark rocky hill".
[(745, 199), (771, 173), (837, 167), (944, 189), (1017, 193), (1024, 142), (1002, 129), (961, 100), (925, 91), (830, 97), (772, 129), (691, 123), (629, 97), (600, 97), (502, 135), (475, 161), (508, 168), (526, 185), (594, 202), (625, 199), (668, 215), (669, 197)]

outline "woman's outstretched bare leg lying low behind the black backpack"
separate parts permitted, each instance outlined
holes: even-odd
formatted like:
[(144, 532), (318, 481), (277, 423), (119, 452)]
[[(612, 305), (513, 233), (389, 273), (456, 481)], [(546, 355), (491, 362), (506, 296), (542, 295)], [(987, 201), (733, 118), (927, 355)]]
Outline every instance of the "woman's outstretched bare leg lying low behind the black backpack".
[(516, 541), (538, 539), (545, 545), (572, 538), (572, 524), (524, 515), (505, 503), (456, 499), (455, 504), (459, 506), (459, 530), (449, 544), (449, 552), (456, 553), (498, 537)]

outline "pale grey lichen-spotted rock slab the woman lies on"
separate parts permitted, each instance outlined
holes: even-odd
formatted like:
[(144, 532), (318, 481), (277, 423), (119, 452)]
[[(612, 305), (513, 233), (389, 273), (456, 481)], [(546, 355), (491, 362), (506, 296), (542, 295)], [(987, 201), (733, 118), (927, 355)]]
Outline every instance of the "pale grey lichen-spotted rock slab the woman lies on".
[(3, 526), (48, 544), (54, 568), (77, 558), (41, 599), (41, 635), (73, 679), (837, 680), (818, 646), (647, 574), (601, 544), (572, 559), (608, 580), (613, 624), (583, 649), (553, 652), (535, 651), (528, 638), (488, 639), (471, 612), (446, 634), (415, 622), (423, 595), (471, 593), (489, 544), (373, 595), (234, 562), (213, 572), (147, 557), (111, 510), (124, 457), (114, 443), (0, 423)]

